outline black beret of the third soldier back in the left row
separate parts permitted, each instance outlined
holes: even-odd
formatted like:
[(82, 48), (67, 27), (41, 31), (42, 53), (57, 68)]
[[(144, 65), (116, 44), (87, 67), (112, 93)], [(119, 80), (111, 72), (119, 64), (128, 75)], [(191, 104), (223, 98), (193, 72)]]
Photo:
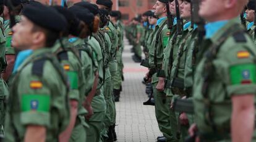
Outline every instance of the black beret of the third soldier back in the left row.
[(87, 23), (87, 25), (90, 25), (94, 20), (94, 15), (88, 9), (80, 6), (72, 6), (69, 8), (69, 10), (73, 12), (77, 18)]

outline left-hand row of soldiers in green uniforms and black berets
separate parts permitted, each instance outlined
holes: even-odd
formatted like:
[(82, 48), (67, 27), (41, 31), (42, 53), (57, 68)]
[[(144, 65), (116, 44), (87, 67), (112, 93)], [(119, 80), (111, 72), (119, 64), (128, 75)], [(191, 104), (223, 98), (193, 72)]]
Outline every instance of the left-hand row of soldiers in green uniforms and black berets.
[(112, 6), (0, 1), (0, 141), (117, 140), (124, 26)]

